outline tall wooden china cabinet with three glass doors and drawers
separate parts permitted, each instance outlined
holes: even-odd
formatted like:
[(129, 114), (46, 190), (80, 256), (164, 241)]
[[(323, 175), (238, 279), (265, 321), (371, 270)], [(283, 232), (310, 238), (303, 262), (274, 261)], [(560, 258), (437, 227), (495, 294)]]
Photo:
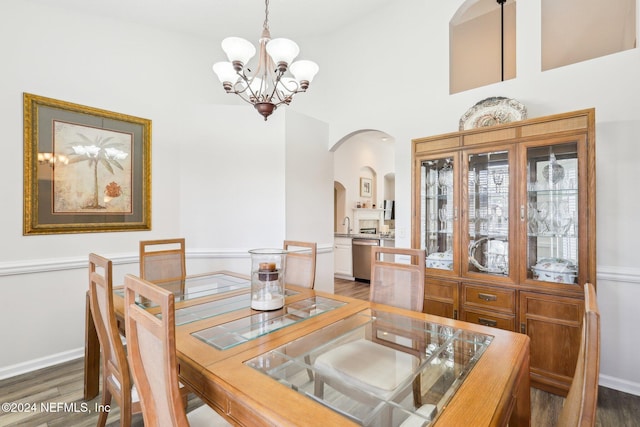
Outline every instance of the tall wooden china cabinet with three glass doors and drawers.
[(425, 311), (531, 338), (531, 382), (566, 394), (595, 284), (595, 110), (413, 140)]

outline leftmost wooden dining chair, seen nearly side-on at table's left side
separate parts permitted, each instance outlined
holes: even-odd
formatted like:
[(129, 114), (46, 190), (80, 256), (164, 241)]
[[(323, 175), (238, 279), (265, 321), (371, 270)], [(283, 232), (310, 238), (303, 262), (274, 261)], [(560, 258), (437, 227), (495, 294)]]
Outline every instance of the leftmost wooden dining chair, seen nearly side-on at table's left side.
[[(127, 355), (120, 338), (113, 306), (112, 262), (89, 254), (89, 305), (102, 351), (102, 407), (112, 398), (120, 406), (120, 425), (130, 426), (131, 416), (142, 412), (138, 392), (129, 373)], [(98, 426), (104, 426), (109, 411), (101, 411)]]

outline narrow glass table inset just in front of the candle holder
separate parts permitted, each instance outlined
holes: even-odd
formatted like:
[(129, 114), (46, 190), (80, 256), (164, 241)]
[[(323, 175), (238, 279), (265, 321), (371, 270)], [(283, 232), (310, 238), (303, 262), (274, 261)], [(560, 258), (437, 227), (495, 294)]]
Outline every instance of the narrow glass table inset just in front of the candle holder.
[[(242, 301), (244, 307), (249, 307), (249, 296), (240, 295), (239, 297), (246, 300)], [(230, 298), (225, 300), (228, 299)], [(218, 350), (226, 350), (345, 304), (347, 303), (324, 297), (306, 298), (285, 303), (280, 310), (253, 312), (253, 314), (241, 319), (192, 332), (191, 335)], [(177, 322), (178, 314), (176, 312), (176, 324)]]

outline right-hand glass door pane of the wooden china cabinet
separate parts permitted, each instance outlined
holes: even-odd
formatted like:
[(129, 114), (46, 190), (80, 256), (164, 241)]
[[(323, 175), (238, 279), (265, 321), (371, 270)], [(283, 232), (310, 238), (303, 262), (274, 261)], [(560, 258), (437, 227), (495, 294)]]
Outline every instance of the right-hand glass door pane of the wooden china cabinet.
[(527, 148), (527, 278), (577, 283), (578, 143)]

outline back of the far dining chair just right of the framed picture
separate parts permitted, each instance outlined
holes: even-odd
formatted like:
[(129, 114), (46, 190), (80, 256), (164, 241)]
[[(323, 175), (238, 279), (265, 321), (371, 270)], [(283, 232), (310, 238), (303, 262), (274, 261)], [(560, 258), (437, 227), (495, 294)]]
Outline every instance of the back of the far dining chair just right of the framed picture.
[(186, 274), (184, 238), (140, 242), (141, 278), (150, 282), (170, 281), (181, 280)]

